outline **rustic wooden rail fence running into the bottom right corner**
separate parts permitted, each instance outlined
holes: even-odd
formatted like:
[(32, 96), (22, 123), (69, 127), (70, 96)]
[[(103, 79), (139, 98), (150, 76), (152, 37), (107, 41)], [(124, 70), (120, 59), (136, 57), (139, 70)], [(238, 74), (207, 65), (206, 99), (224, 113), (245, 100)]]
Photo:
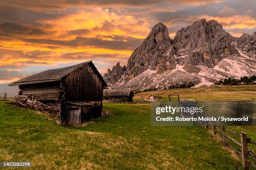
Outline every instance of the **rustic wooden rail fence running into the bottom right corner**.
[[(219, 125), (219, 127), (218, 127), (218, 125)], [(206, 121), (205, 122), (205, 128), (207, 129), (208, 127), (211, 128), (212, 135), (217, 136), (218, 138), (220, 138), (220, 140), (223, 141), (224, 146), (231, 148), (239, 156), (241, 156), (242, 162), (243, 162), (243, 167), (244, 167), (245, 170), (249, 170), (249, 165), (251, 165), (253, 168), (256, 168), (255, 163), (253, 163), (252, 161), (250, 161), (248, 159), (248, 155), (252, 156), (253, 158), (256, 158), (256, 154), (254, 154), (252, 152), (252, 150), (248, 148), (248, 143), (251, 143), (252, 145), (256, 145), (256, 142), (254, 142), (250, 138), (248, 138), (246, 133), (244, 133), (244, 132), (241, 132), (240, 134), (236, 133), (233, 130), (230, 130), (227, 127), (225, 127), (223, 124), (221, 124), (219, 122), (214, 122), (214, 121), (212, 121), (212, 122), (207, 122)], [(228, 135), (226, 133), (227, 131), (236, 135), (236, 136), (238, 136), (238, 137), (240, 137), (241, 142), (239, 142), (235, 138)], [(233, 143), (238, 145), (238, 147), (241, 147), (241, 152), (239, 152), (236, 149), (236, 147), (234, 147), (233, 145), (228, 143), (227, 139), (230, 139), (231, 141), (233, 141)]]

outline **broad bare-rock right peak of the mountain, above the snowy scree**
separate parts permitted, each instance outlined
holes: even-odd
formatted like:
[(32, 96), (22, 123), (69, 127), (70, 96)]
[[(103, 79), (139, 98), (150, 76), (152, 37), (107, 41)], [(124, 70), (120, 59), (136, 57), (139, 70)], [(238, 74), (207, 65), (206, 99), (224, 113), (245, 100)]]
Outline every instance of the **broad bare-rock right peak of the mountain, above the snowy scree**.
[(227, 55), (238, 53), (231, 45), (233, 41), (217, 21), (202, 19), (179, 30), (173, 44), (176, 58), (183, 58), (178, 64), (214, 67)]

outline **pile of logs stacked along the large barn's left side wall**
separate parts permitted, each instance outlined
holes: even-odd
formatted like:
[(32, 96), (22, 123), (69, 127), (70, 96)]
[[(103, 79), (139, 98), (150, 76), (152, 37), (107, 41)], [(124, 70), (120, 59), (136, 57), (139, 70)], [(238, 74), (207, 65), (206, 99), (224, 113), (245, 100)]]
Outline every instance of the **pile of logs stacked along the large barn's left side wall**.
[(19, 104), (19, 105), (22, 105), (24, 107), (28, 107), (31, 109), (40, 110), (40, 111), (43, 111), (46, 113), (52, 113), (54, 111), (59, 111), (49, 105), (45, 105), (42, 102), (34, 100), (34, 97), (31, 98), (30, 96), (26, 96), (26, 95), (16, 95), (15, 97), (12, 97), (12, 100), (15, 104)]

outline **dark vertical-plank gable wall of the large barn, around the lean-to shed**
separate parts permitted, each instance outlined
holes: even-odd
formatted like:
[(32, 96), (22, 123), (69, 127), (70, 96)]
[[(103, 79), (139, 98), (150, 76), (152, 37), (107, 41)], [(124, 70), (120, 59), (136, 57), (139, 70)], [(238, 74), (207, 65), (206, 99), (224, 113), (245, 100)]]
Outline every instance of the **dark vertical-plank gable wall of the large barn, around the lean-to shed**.
[[(100, 78), (90, 64), (69, 73), (64, 79), (62, 85), (64, 90), (61, 93), (65, 94), (65, 100), (91, 103), (94, 105), (90, 113), (91, 118), (100, 117), (103, 87)], [(67, 115), (64, 116), (68, 118)], [(84, 121), (88, 120), (81, 120), (81, 122)]]

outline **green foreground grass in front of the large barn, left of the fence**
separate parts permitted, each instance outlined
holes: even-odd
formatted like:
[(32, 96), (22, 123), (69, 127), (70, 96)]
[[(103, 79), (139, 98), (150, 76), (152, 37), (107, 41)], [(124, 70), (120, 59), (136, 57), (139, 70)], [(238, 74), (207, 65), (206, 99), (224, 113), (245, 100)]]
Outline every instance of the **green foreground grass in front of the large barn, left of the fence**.
[(104, 104), (116, 116), (83, 127), (0, 102), (0, 160), (32, 169), (242, 169), (201, 127), (152, 127), (150, 105)]

